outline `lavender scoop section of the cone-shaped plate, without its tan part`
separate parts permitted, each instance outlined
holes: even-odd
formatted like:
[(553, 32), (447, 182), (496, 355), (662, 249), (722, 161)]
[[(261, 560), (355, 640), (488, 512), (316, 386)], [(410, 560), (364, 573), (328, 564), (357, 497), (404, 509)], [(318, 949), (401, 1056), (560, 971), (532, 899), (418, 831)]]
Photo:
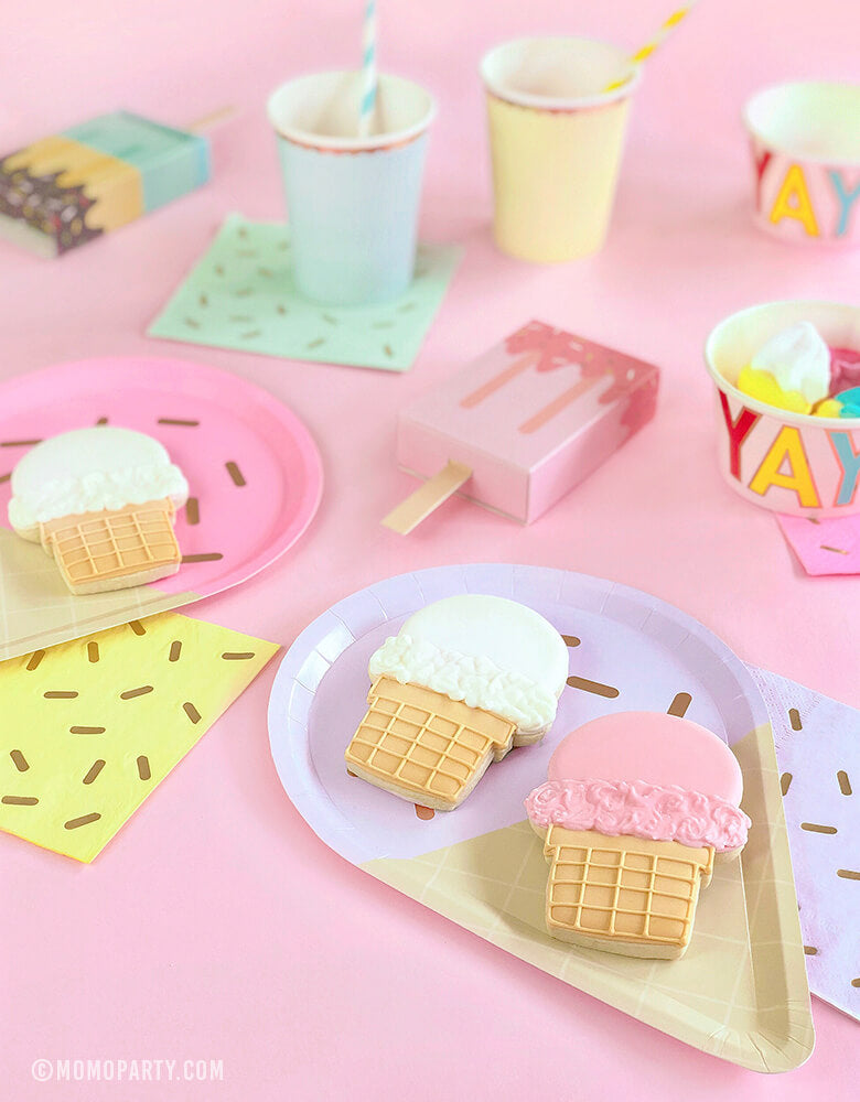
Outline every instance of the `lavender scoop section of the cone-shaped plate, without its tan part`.
[[(455, 814), (415, 809), (351, 778), (343, 753), (366, 707), (367, 661), (417, 608), (458, 593), (491, 593), (537, 609), (570, 648), (573, 677), (617, 690), (568, 688), (544, 742), (493, 765)], [(687, 716), (731, 746), (767, 723), (743, 663), (701, 624), (637, 590), (546, 566), (470, 564), (400, 574), (337, 602), (295, 640), (269, 702), (271, 753), (287, 795), (308, 823), (353, 864), (410, 857), (520, 821), (524, 797), (546, 780), (558, 741), (609, 712), (665, 712), (689, 694)]]

